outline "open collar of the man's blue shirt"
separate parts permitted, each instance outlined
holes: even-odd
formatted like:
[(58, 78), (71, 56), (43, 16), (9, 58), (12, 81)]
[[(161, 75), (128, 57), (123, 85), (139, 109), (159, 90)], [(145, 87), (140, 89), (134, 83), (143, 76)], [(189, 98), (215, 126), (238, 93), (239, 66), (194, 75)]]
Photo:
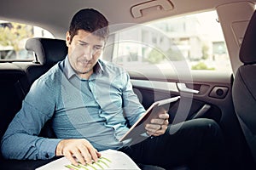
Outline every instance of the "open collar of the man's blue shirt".
[[(98, 59), (96, 65), (93, 67), (93, 74), (102, 73), (104, 71), (103, 65), (104, 64), (103, 64), (102, 60)], [(70, 79), (71, 77), (77, 75), (76, 72), (73, 71), (72, 66), (70, 65), (68, 56), (63, 61), (63, 68), (62, 68), (62, 70), (63, 70), (64, 74), (66, 75), (66, 77), (68, 79)]]

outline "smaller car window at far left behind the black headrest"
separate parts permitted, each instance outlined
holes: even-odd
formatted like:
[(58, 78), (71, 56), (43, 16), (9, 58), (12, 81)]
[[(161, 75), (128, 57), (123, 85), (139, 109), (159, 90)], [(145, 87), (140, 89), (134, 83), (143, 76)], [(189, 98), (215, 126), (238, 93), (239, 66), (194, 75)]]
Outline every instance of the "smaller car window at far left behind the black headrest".
[(38, 26), (29, 26), (0, 20), (0, 59), (33, 59), (32, 52), (25, 49), (31, 37), (53, 37)]

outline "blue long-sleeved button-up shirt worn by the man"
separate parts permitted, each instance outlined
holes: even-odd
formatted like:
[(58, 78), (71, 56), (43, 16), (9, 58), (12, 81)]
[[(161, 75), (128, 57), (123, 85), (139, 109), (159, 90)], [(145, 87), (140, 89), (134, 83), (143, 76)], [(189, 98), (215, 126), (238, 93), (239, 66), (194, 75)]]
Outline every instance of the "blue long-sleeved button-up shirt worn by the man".
[[(61, 139), (84, 138), (97, 150), (119, 149), (126, 120), (132, 125), (144, 112), (125, 70), (99, 59), (84, 80), (66, 58), (32, 84), (3, 136), (3, 156), (49, 159)], [(38, 137), (49, 119), (57, 139)]]

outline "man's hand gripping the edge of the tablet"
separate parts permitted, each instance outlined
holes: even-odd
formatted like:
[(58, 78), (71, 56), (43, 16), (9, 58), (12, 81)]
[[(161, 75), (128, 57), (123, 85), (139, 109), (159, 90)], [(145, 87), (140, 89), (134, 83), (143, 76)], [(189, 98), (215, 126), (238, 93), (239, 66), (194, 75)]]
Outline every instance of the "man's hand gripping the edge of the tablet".
[(146, 125), (146, 130), (150, 136), (160, 136), (166, 133), (169, 115), (166, 111), (160, 113), (158, 118), (152, 119), (149, 124)]

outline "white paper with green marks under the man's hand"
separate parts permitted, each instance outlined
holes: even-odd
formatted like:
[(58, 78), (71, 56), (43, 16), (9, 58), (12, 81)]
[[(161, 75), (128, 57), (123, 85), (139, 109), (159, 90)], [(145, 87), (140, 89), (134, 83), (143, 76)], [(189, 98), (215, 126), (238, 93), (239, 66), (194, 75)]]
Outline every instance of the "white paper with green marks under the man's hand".
[(98, 169), (127, 169), (137, 170), (137, 164), (131, 160), (129, 156), (118, 150), (104, 150), (101, 151), (101, 158), (99, 161), (90, 165), (73, 166), (66, 157), (51, 161), (48, 164), (38, 167), (37, 170), (98, 170)]

